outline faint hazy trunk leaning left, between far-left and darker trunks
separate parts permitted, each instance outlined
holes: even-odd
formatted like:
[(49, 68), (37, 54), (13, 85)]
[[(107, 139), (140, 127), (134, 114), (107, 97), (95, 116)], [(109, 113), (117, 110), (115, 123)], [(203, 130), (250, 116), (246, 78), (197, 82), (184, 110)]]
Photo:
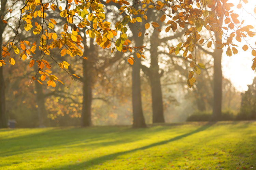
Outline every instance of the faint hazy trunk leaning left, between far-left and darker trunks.
[[(38, 75), (37, 79), (40, 80), (40, 75)], [(36, 101), (38, 105), (37, 111), (38, 111), (38, 118), (39, 118), (39, 127), (49, 127), (50, 120), (47, 117), (47, 111), (45, 108), (43, 85), (39, 84), (36, 81), (34, 83), (35, 83), (35, 91), (37, 92)]]

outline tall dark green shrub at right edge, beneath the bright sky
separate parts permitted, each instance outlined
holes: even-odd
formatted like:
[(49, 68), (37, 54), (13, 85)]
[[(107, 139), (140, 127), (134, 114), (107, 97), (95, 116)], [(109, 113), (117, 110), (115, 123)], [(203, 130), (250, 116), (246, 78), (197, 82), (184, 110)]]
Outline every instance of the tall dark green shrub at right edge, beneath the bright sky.
[(256, 120), (256, 77), (248, 85), (248, 90), (242, 93), (240, 112), (237, 120)]

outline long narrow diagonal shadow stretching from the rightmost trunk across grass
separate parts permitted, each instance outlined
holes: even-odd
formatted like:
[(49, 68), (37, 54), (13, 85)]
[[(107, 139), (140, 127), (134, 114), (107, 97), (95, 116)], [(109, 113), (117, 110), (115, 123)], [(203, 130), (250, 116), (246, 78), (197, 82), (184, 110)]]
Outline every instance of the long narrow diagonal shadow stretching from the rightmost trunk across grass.
[[(139, 151), (139, 150), (146, 150), (146, 149), (149, 149), (149, 148), (152, 148), (152, 147), (155, 147), (155, 146), (167, 144), (169, 142), (173, 142), (173, 141), (185, 138), (187, 136), (199, 133), (199, 132), (201, 132), (201, 131), (211, 127), (215, 123), (216, 122), (208, 122), (204, 126), (198, 128), (198, 129), (196, 129), (196, 130), (194, 130), (194, 131), (192, 131), (190, 133), (186, 133), (186, 134), (183, 134), (183, 135), (180, 135), (180, 136), (176, 136), (176, 137), (168, 139), (168, 140), (164, 140), (164, 141), (152, 143), (152, 144), (149, 144), (149, 145), (146, 145), (146, 146), (142, 146), (141, 148), (136, 148), (136, 149), (129, 150), (129, 151), (123, 151), (123, 152), (117, 152), (117, 153), (113, 153), (113, 154), (109, 154), (109, 155), (104, 155), (104, 156), (101, 156), (101, 157), (98, 157), (98, 158), (95, 158), (95, 159), (91, 159), (91, 160), (88, 160), (88, 161), (84, 161), (84, 162), (81, 162), (81, 163), (78, 163), (78, 164), (75, 164), (75, 165), (74, 164), (73, 165), (66, 165), (66, 166), (62, 166), (62, 167), (59, 167), (59, 168), (55, 167), (54, 169), (55, 170), (60, 170), (60, 169), (81, 169), (81, 167), (84, 168), (84, 166), (98, 165), (100, 163), (102, 164), (105, 161), (115, 159), (117, 156), (121, 156), (121, 155), (132, 153), (132, 152), (136, 152), (136, 151)], [(48, 168), (45, 168), (43, 170), (48, 170)]]

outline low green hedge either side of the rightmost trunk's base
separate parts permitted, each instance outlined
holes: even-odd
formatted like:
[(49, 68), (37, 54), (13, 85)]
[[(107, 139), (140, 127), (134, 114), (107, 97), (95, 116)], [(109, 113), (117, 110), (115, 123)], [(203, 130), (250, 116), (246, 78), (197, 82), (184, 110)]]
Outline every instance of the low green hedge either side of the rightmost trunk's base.
[[(212, 111), (198, 111), (187, 117), (187, 122), (206, 122), (211, 121)], [(221, 121), (235, 120), (235, 114), (232, 110), (222, 111)]]

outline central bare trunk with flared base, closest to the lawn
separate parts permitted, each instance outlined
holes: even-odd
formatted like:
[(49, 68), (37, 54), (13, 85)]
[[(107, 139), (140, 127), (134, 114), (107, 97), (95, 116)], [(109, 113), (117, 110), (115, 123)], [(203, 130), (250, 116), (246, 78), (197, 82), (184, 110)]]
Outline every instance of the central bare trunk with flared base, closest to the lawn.
[[(136, 53), (135, 53), (136, 56)], [(136, 62), (132, 65), (132, 111), (133, 128), (146, 127), (142, 112), (141, 86), (140, 86), (140, 59), (134, 57)]]

